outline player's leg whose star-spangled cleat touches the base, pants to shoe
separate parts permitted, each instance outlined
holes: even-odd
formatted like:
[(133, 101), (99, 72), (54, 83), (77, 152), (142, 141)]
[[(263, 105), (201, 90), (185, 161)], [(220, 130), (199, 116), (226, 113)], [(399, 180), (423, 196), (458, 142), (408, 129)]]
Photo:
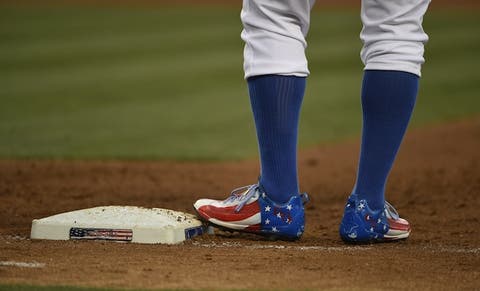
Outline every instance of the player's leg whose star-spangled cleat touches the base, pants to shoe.
[(195, 203), (200, 217), (227, 229), (298, 238), (304, 230), (297, 177), (297, 129), (308, 75), (305, 35), (313, 1), (244, 0), (244, 69), (257, 130), (257, 184), (224, 201)]

